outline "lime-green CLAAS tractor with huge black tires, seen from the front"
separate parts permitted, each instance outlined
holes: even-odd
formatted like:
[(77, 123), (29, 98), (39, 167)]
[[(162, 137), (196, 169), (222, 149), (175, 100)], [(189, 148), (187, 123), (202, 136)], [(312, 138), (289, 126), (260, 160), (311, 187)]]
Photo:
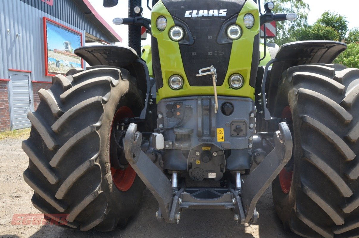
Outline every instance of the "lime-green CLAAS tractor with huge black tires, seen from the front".
[(272, 2), (263, 14), (259, 0), (151, 5), (151, 19), (141, 0), (114, 19), (129, 25), (130, 47), (78, 48), (90, 66), (39, 90), (22, 144), (33, 205), (62, 227), (109, 231), (147, 187), (159, 221), (228, 209), (244, 224), (271, 185), (287, 231), (358, 237), (359, 70), (332, 64), (346, 45), (261, 43), (261, 25), (296, 18)]

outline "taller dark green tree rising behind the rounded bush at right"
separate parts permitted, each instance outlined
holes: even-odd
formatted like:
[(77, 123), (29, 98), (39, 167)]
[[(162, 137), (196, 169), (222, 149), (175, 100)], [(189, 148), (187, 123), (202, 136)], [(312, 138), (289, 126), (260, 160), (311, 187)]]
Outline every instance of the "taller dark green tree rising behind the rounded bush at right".
[(317, 23), (325, 25), (326, 27), (331, 27), (337, 31), (339, 34), (339, 41), (344, 40), (345, 35), (348, 32), (348, 21), (346, 20), (346, 17), (339, 15), (338, 13), (326, 11), (317, 20)]

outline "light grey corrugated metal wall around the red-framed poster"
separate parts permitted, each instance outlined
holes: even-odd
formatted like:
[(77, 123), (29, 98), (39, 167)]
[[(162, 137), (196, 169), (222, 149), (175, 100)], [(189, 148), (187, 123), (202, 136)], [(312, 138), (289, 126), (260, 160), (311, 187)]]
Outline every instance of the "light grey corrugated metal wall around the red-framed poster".
[[(38, 2), (42, 3), (41, 0)], [(50, 76), (45, 76), (42, 17), (50, 18), (83, 33), (83, 42), (85, 42), (85, 31), (82, 29), (22, 1), (0, 0), (0, 79), (9, 78), (9, 69), (18, 69), (32, 71), (33, 81), (51, 81)], [(17, 33), (20, 33), (21, 37), (17, 37)]]

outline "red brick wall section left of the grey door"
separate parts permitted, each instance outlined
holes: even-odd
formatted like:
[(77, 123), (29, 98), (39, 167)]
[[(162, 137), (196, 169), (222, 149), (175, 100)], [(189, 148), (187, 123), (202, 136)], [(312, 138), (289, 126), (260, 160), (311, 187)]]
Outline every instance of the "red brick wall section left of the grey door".
[(8, 81), (0, 81), (0, 131), (10, 129)]

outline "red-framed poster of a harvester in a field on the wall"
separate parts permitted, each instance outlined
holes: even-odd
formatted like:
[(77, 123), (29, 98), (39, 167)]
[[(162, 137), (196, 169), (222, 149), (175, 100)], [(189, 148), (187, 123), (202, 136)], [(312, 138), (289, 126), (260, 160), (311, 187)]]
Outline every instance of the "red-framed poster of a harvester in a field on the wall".
[(82, 46), (82, 34), (48, 18), (45, 28), (45, 75), (66, 74), (71, 68), (82, 68), (81, 58), (74, 50)]

